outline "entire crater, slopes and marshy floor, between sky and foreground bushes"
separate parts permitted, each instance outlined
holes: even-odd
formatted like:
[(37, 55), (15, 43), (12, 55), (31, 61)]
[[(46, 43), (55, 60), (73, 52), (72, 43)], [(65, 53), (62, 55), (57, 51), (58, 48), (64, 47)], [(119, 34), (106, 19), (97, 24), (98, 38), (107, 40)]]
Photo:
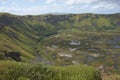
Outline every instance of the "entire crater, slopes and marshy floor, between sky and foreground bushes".
[(5, 51), (20, 52), (23, 62), (86, 64), (102, 72), (119, 72), (120, 14), (17, 16), (1, 13), (1, 60), (7, 59)]

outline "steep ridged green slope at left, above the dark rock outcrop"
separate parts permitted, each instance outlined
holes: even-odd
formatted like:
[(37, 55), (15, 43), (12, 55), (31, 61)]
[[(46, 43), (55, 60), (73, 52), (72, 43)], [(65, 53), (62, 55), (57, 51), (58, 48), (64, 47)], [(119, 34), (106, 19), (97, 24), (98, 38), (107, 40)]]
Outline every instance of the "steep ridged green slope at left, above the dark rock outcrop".
[(37, 36), (30, 31), (27, 24), (18, 16), (1, 14), (0, 27), (1, 51), (19, 51), (24, 60), (34, 58), (32, 45)]

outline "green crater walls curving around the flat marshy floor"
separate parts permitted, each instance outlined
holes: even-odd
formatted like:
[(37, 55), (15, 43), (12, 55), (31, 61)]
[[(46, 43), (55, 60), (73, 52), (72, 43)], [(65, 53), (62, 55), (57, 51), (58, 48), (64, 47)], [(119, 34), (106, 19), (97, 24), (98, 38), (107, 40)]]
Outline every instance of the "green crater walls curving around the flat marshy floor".
[[(96, 30), (119, 31), (119, 15), (120, 14), (48, 14), (17, 16), (1, 13), (0, 50), (19, 51), (22, 54), (23, 61), (28, 61), (29, 59), (35, 58), (34, 46), (36, 46), (36, 43), (39, 43), (43, 38), (48, 36), (59, 34), (58, 32), (62, 32), (63, 30), (69, 31), (69, 29), (77, 29), (80, 31), (88, 31), (88, 34), (89, 31)], [(75, 37), (77, 37), (76, 34)]]

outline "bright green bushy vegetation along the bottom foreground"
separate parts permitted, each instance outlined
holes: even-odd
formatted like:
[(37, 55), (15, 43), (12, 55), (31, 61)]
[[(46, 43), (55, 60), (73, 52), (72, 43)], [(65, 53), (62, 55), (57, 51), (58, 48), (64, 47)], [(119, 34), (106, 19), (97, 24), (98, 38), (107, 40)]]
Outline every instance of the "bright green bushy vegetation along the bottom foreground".
[(101, 80), (93, 67), (45, 67), (40, 64), (0, 61), (0, 80)]

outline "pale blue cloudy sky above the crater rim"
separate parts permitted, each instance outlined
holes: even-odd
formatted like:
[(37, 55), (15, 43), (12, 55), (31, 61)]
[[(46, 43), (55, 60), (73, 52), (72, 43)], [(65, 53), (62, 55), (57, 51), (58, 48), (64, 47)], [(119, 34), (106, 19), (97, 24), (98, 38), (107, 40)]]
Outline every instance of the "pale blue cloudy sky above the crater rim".
[(17, 15), (48, 13), (120, 13), (120, 0), (0, 0), (0, 12)]

